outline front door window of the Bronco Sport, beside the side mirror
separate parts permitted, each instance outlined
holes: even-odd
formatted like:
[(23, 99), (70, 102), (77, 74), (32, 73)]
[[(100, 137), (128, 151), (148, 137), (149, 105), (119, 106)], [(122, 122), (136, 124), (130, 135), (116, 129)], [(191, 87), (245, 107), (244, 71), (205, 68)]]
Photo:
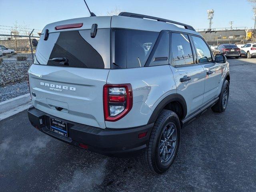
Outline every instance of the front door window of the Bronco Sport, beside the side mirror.
[(196, 59), (199, 63), (212, 62), (212, 54), (210, 49), (200, 37), (192, 36), (196, 47)]

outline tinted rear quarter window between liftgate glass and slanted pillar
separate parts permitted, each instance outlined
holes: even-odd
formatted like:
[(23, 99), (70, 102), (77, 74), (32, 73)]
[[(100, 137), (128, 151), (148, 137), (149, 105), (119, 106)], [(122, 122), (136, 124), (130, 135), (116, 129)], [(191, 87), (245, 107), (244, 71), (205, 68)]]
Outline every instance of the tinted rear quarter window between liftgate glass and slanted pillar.
[(158, 35), (159, 32), (114, 29), (112, 68), (143, 67)]

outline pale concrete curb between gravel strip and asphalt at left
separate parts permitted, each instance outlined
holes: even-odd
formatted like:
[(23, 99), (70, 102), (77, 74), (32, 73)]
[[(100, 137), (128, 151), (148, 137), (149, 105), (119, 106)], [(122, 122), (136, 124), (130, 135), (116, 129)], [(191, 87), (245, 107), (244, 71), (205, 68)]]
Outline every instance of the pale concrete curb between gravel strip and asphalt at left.
[(30, 94), (0, 102), (0, 120), (26, 110), (31, 105)]

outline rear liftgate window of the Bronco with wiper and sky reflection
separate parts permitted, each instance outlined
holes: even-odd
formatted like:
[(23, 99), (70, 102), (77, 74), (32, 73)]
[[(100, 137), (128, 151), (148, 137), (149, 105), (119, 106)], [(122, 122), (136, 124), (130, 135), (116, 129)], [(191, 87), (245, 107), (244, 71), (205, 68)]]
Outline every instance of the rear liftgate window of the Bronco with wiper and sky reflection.
[[(67, 62), (53, 58), (66, 58)], [(98, 29), (95, 38), (90, 30), (50, 33), (48, 40), (40, 38), (35, 60), (49, 66), (110, 68), (110, 29)]]

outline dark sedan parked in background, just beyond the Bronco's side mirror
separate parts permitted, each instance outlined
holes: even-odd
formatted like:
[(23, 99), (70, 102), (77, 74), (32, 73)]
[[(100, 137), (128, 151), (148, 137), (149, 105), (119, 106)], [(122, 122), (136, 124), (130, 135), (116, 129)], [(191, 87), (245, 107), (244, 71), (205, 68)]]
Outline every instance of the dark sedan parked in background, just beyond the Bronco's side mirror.
[(240, 48), (235, 44), (221, 44), (214, 49), (213, 54), (224, 54), (227, 57), (235, 57), (238, 59), (240, 56)]

